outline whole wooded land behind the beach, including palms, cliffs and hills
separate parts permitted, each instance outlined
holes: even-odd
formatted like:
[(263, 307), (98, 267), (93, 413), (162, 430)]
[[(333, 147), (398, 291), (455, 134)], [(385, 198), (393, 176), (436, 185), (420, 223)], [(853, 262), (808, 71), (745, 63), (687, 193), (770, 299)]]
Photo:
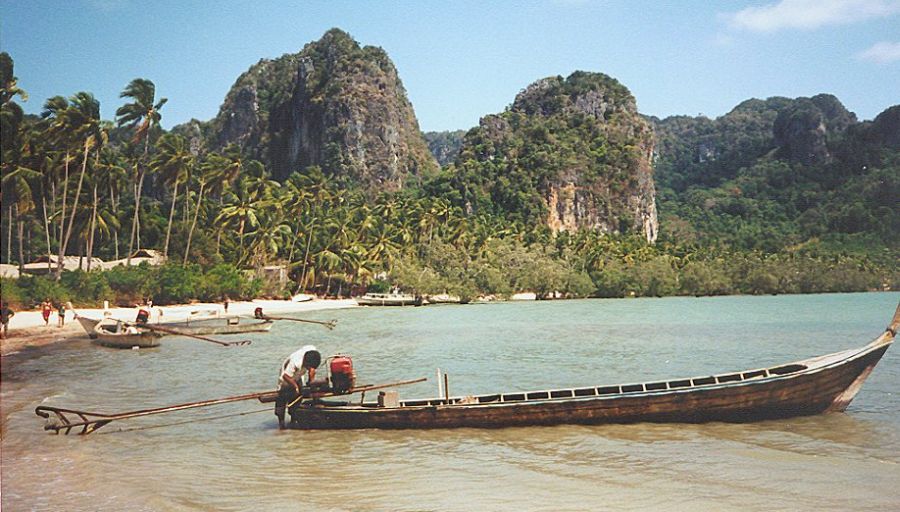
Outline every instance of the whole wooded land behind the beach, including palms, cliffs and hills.
[[(58, 262), (4, 278), (15, 304), (388, 283), (463, 300), (900, 285), (900, 106), (859, 122), (818, 95), (644, 118), (615, 79), (576, 72), (468, 132), (423, 137), (387, 54), (339, 30), (253, 66), (216, 119), (168, 132), (148, 79), (123, 84), (114, 120), (84, 91), (25, 115), (35, 99), (5, 53), (0, 85), (0, 262)], [(137, 249), (167, 263), (97, 271)], [(257, 277), (268, 265), (287, 286)]]

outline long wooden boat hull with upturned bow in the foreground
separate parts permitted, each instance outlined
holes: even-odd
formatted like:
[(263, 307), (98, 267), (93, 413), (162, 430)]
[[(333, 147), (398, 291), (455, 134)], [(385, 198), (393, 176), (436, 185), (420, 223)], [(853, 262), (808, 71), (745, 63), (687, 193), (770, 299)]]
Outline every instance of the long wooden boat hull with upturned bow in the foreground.
[(843, 411), (894, 341), (888, 329), (863, 348), (756, 370), (646, 383), (374, 403), (313, 402), (297, 429), (495, 428), (526, 425), (749, 422)]

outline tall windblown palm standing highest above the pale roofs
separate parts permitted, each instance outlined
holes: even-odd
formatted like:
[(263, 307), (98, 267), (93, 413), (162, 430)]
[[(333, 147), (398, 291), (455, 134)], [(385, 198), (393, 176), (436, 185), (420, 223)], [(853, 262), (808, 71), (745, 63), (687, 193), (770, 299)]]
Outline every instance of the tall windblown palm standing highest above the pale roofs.
[(144, 187), (144, 176), (146, 170), (140, 165), (146, 160), (150, 151), (150, 135), (151, 132), (159, 127), (162, 115), (159, 109), (168, 101), (167, 98), (161, 98), (158, 102), (156, 99), (156, 86), (146, 78), (135, 78), (131, 81), (119, 95), (120, 98), (130, 98), (132, 101), (126, 103), (116, 110), (116, 124), (119, 126), (128, 126), (135, 128), (134, 141), (139, 142), (144, 139), (143, 157), (135, 163), (135, 183), (134, 183), (134, 217), (131, 223), (131, 239), (128, 242), (127, 265), (131, 264), (131, 255), (134, 252), (134, 243), (138, 242), (140, 247), (140, 212), (141, 212), (141, 192)]

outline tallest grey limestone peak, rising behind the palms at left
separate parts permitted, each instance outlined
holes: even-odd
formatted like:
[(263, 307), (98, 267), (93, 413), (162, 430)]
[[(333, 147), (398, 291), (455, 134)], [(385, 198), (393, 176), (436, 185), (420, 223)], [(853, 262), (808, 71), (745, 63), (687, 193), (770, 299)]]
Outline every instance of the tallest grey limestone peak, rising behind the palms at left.
[(211, 123), (214, 149), (238, 144), (276, 178), (307, 166), (373, 191), (437, 169), (397, 70), (338, 29), (241, 75)]

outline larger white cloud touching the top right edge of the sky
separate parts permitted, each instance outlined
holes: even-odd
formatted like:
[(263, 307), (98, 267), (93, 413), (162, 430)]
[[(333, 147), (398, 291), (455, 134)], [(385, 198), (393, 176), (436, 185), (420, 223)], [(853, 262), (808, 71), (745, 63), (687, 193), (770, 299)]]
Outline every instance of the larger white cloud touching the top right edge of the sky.
[(843, 25), (900, 12), (900, 0), (780, 0), (723, 15), (735, 29), (775, 32), (812, 30)]

